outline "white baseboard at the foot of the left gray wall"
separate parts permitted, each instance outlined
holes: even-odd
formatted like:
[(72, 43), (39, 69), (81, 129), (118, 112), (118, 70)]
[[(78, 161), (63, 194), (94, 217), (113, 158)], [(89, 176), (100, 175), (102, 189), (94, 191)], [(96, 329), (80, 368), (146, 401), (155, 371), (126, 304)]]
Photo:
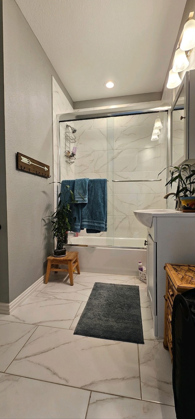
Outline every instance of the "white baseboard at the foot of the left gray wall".
[(42, 275), (41, 278), (39, 278), (34, 284), (30, 285), (30, 287), (27, 288), (22, 294), (18, 295), (18, 297), (15, 298), (11, 303), (0, 303), (0, 314), (11, 314), (13, 310), (15, 310), (21, 303), (23, 303), (26, 298), (29, 297), (40, 284), (43, 284), (45, 279), (45, 275)]

